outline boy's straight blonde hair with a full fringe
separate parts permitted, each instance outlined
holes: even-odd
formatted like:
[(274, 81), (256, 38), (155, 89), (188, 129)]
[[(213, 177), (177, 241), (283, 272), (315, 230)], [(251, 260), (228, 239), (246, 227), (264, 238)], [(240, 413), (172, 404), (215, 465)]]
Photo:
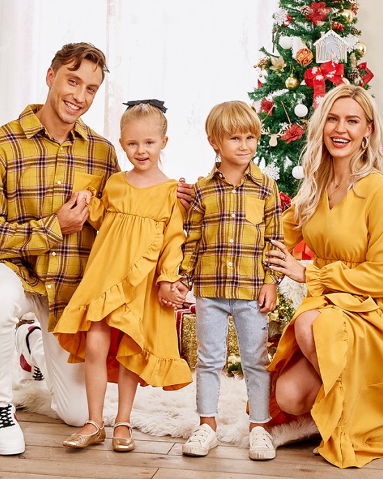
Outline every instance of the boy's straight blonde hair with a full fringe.
[(257, 113), (245, 102), (238, 100), (219, 103), (210, 111), (205, 123), (208, 137), (218, 145), (225, 136), (235, 133), (253, 134), (260, 139), (260, 120)]

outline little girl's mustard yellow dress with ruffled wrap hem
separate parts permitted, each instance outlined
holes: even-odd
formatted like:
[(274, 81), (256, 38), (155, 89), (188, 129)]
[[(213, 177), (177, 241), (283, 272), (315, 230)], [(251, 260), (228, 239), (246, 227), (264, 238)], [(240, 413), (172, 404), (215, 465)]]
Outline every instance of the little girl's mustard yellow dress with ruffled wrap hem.
[(178, 389), (192, 382), (180, 359), (174, 311), (157, 299), (159, 281), (180, 277), (185, 233), (176, 193), (175, 180), (136, 188), (120, 172), (109, 178), (102, 200), (91, 199), (88, 221), (99, 233), (84, 278), (54, 329), (70, 363), (84, 361), (86, 331), (104, 319), (114, 328), (110, 382), (117, 382), (119, 364), (143, 386)]

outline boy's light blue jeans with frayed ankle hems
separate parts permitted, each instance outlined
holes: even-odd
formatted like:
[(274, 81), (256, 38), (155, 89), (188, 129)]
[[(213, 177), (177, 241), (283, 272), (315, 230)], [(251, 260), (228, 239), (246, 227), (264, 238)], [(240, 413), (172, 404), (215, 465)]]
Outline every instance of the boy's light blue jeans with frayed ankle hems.
[(233, 315), (241, 366), (249, 398), (249, 421), (267, 423), (269, 416), (268, 316), (258, 301), (196, 298), (196, 403), (200, 417), (217, 416), (221, 370), (226, 364), (228, 314)]

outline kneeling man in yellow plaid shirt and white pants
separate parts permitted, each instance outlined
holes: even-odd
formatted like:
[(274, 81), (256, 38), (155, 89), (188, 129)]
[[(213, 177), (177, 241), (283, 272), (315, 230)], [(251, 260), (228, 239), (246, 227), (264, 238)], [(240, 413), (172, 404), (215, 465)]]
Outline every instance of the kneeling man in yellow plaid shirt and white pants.
[[(52, 409), (70, 425), (88, 417), (84, 365), (67, 363), (51, 331), (81, 281), (96, 234), (75, 191), (92, 186), (100, 197), (118, 170), (114, 146), (80, 118), (108, 71), (100, 49), (64, 45), (47, 71), (45, 104), (29, 105), (0, 127), (0, 455), (25, 448), (10, 368), (24, 313), (41, 324)], [(190, 187), (181, 180), (185, 204)]]

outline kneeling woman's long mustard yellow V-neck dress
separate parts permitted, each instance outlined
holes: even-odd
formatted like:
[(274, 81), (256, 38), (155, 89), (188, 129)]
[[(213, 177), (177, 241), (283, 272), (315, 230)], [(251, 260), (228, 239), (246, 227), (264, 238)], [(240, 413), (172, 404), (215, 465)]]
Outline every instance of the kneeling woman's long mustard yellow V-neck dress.
[(308, 294), (283, 332), (269, 366), (278, 371), (297, 350), (294, 322), (318, 310), (313, 323), (322, 388), (311, 415), (319, 452), (338, 467), (361, 467), (383, 457), (383, 175), (357, 182), (329, 208), (327, 194), (302, 230), (293, 208), (283, 217), (289, 251), (302, 240), (314, 252)]

